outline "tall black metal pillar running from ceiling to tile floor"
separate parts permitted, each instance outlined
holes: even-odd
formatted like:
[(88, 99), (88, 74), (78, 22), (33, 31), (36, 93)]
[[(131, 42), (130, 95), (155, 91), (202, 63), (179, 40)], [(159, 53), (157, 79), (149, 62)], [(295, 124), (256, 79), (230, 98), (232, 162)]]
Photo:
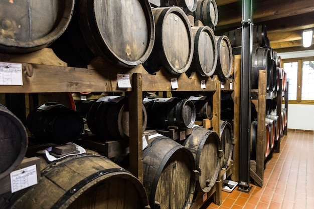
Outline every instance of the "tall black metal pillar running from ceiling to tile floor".
[(250, 182), (250, 121), (252, 63), (252, 0), (242, 1), (241, 103), (240, 103), (240, 183), (243, 190)]

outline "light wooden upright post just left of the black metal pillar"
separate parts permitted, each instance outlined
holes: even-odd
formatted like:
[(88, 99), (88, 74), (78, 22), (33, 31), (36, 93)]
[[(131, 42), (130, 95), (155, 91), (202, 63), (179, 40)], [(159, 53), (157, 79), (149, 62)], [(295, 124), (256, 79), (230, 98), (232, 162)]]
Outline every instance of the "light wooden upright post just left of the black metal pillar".
[(241, 55), (234, 56), (234, 92), (233, 103), (234, 103), (234, 112), (233, 112), (233, 175), (232, 179), (234, 181), (240, 180), (240, 102), (241, 102)]

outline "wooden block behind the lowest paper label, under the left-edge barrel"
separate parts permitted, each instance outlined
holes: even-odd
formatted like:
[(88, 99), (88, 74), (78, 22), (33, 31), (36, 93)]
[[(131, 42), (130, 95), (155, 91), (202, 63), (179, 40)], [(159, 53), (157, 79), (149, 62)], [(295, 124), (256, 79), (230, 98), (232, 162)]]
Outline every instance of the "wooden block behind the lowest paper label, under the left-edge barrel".
[[(15, 169), (19, 170), (31, 165), (36, 165), (36, 172), (37, 172), (37, 181), (40, 181), (40, 159), (39, 157), (31, 157), (31, 158), (24, 158), (21, 164)], [(0, 179), (0, 194), (6, 193), (11, 191), (11, 180), (10, 175)]]

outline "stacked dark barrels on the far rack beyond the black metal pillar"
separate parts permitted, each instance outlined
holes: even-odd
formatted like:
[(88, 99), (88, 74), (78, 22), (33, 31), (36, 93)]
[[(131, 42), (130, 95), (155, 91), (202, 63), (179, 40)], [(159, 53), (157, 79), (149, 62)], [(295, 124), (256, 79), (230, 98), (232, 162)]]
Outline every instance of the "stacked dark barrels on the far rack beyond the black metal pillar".
[[(241, 54), (242, 50), (242, 29), (238, 28), (225, 35), (229, 37), (230, 43), (233, 47), (233, 54)], [(269, 45), (269, 38), (267, 37), (266, 26), (253, 26), (252, 29), (253, 50), (252, 50), (252, 67), (250, 75), (251, 89), (258, 89), (258, 75), (259, 70), (266, 70), (266, 104), (265, 104), (265, 126), (264, 126), (264, 156), (269, 155), (274, 148), (275, 141), (278, 141), (280, 134), (285, 128), (282, 124), (284, 119), (283, 113), (276, 113), (277, 99), (281, 98), (281, 91), (285, 91), (286, 77), (285, 72), (281, 68), (281, 58), (273, 51)], [(279, 86), (280, 80), (282, 85)], [(274, 95), (274, 96), (273, 96)], [(280, 100), (281, 101), (281, 100)], [(280, 110), (281, 111), (281, 110)], [(286, 110), (282, 110), (285, 112)], [(251, 159), (256, 159), (256, 145), (257, 145), (257, 111), (252, 103), (252, 123), (251, 123)], [(286, 114), (285, 114), (286, 115)], [(286, 124), (286, 123), (285, 123)]]

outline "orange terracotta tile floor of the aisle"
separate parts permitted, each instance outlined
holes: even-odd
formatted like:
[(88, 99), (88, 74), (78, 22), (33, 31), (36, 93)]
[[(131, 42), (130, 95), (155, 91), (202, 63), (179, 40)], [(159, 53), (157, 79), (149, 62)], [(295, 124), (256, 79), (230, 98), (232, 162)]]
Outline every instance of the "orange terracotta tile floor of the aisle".
[(313, 132), (288, 131), (280, 153), (273, 153), (266, 163), (262, 188), (252, 184), (250, 193), (222, 191), (222, 204), (211, 202), (207, 209), (314, 208), (313, 144)]

